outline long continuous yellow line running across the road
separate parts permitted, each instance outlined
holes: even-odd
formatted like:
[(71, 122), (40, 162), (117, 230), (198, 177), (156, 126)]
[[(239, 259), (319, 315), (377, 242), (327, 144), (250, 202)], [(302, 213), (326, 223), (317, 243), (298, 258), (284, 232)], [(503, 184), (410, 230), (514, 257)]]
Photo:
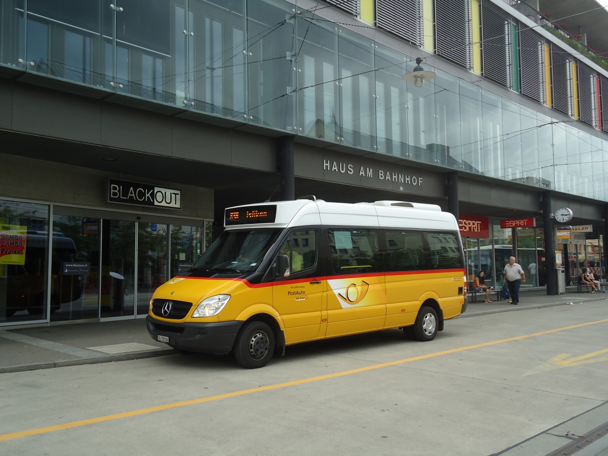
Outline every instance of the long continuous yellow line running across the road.
[(443, 351), (437, 351), (435, 353), (422, 354), (420, 356), (413, 356), (412, 358), (399, 359), (396, 361), (389, 361), (389, 362), (385, 362), (382, 364), (374, 364), (374, 365), (370, 365), (367, 367), (359, 367), (356, 369), (350, 369), (350, 370), (345, 370), (342, 372), (335, 372), (335, 373), (326, 374), (326, 375), (319, 375), (316, 377), (304, 378), (304, 379), (300, 379), (300, 380), (294, 380), (291, 382), (284, 382), (284, 383), (278, 383), (275, 385), (261, 386), (261, 387), (252, 388), (252, 389), (248, 389), (248, 390), (235, 391), (232, 393), (224, 393), (224, 394), (219, 394), (219, 395), (215, 395), (215, 396), (209, 396), (207, 398), (190, 399), (189, 401), (174, 402), (173, 404), (164, 404), (162, 406), (148, 407), (147, 409), (131, 410), (131, 412), (114, 413), (112, 415), (97, 416), (96, 418), (89, 418), (88, 420), (78, 420), (78, 421), (72, 421), (71, 423), (55, 424), (54, 426), (39, 427), (38, 429), (23, 430), (20, 432), (11, 432), (10, 434), (1, 434), (0, 441), (12, 440), (12, 439), (21, 438), (21, 437), (29, 437), (30, 435), (47, 434), (48, 432), (54, 432), (55, 430), (72, 429), (73, 427), (86, 426), (87, 424), (103, 423), (105, 421), (117, 420), (119, 418), (129, 418), (130, 416), (145, 415), (146, 413), (160, 412), (161, 410), (177, 409), (178, 407), (192, 406), (195, 404), (203, 404), (204, 402), (218, 401), (219, 399), (234, 398), (237, 396), (244, 396), (244, 395), (251, 394), (251, 393), (260, 393), (260, 392), (264, 392), (264, 391), (271, 391), (271, 390), (286, 388), (286, 387), (295, 386), (295, 385), (302, 385), (302, 384), (316, 382), (316, 381), (320, 381), (320, 380), (343, 377), (343, 376), (347, 376), (347, 375), (353, 375), (356, 373), (379, 369), (382, 367), (394, 366), (394, 365), (404, 364), (406, 362), (412, 362), (412, 361), (420, 361), (421, 359), (435, 358), (436, 356), (444, 356), (446, 354), (458, 353), (460, 351), (472, 350), (474, 348), (491, 347), (492, 345), (504, 344), (505, 342), (513, 342), (514, 340), (529, 339), (530, 337), (544, 336), (546, 334), (558, 333), (559, 331), (572, 330), (575, 328), (582, 328), (583, 326), (596, 325), (597, 323), (606, 323), (606, 322), (608, 322), (608, 319), (597, 320), (595, 322), (580, 323), (579, 325), (565, 326), (564, 328), (556, 328), (554, 330), (541, 331), (540, 333), (508, 337), (507, 339), (494, 340), (492, 342), (484, 342), (483, 344), (468, 345), (467, 347), (451, 348), (450, 350), (443, 350)]

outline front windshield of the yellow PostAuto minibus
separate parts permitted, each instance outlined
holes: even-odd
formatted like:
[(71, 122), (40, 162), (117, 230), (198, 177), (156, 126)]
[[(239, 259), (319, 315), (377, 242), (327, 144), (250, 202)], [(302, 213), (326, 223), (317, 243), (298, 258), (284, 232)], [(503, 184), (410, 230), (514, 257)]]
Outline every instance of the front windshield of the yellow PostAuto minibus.
[(282, 230), (225, 231), (193, 266), (194, 271), (252, 272), (260, 266)]

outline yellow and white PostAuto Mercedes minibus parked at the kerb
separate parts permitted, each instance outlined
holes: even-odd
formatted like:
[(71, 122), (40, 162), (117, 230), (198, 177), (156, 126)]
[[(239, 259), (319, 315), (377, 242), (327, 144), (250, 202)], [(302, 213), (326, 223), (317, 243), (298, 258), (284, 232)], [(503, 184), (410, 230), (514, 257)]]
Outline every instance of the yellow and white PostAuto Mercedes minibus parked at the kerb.
[(458, 222), (439, 206), (314, 196), (226, 209), (226, 230), (160, 286), (147, 326), (247, 368), (288, 345), (389, 328), (427, 341), (466, 309)]

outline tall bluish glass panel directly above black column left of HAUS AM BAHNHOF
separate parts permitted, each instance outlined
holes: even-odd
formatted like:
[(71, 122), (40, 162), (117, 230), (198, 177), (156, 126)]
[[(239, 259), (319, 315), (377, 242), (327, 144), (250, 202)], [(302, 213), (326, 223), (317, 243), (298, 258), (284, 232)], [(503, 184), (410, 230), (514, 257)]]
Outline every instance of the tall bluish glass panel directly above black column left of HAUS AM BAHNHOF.
[(292, 5), (247, 2), (249, 122), (280, 130), (295, 125), (295, 20)]

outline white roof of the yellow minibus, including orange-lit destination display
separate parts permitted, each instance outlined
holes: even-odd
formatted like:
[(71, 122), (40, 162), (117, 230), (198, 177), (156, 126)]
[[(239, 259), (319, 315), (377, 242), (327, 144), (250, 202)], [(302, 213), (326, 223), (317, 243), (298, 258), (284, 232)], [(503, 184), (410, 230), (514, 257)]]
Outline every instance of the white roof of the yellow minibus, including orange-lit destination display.
[[(232, 221), (230, 220), (232, 219)], [(263, 220), (266, 220), (263, 222)], [(321, 199), (263, 202), (226, 209), (224, 226), (237, 228), (287, 228), (331, 225), (419, 228), (458, 231), (458, 222), (435, 204), (406, 201), (326, 202)]]

